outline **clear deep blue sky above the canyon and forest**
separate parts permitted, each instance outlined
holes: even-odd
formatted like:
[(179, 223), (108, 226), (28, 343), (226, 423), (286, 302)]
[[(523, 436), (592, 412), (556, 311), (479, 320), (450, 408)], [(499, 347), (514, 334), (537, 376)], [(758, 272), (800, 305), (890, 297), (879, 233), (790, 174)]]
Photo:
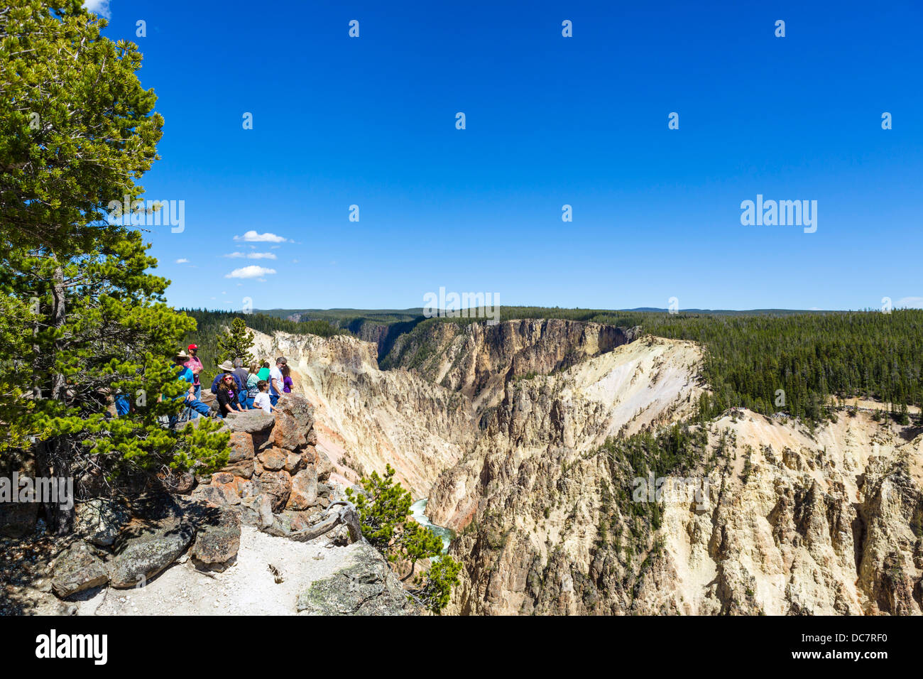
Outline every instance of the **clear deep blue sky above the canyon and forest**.
[[(109, 3), (166, 119), (141, 183), (185, 200), (175, 306), (923, 305), (918, 2), (335, 5)], [(817, 231), (740, 224), (757, 194)]]

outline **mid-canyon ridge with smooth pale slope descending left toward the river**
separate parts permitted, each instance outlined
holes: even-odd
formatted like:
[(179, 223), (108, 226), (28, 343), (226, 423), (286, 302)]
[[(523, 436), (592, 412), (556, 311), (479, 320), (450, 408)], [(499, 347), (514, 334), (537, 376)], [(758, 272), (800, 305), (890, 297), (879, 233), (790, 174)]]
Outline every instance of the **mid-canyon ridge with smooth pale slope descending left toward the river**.
[(701, 393), (700, 360), (691, 343), (648, 337), (555, 375), (509, 382), (484, 436), (434, 484), (430, 519), (462, 529), (497, 491), (531, 486), (522, 485), (521, 467), (564, 464), (609, 436), (688, 416)]

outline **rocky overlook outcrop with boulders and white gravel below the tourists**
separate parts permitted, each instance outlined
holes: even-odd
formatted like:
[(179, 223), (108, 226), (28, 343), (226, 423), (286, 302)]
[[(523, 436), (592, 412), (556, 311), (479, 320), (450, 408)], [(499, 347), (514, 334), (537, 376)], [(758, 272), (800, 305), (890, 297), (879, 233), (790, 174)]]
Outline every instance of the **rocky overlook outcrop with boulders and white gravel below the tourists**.
[(78, 503), (65, 540), (40, 527), (7, 545), (0, 612), (419, 612), (330, 480), (303, 397), (223, 425), (231, 454), (220, 471), (161, 475), (145, 494)]

